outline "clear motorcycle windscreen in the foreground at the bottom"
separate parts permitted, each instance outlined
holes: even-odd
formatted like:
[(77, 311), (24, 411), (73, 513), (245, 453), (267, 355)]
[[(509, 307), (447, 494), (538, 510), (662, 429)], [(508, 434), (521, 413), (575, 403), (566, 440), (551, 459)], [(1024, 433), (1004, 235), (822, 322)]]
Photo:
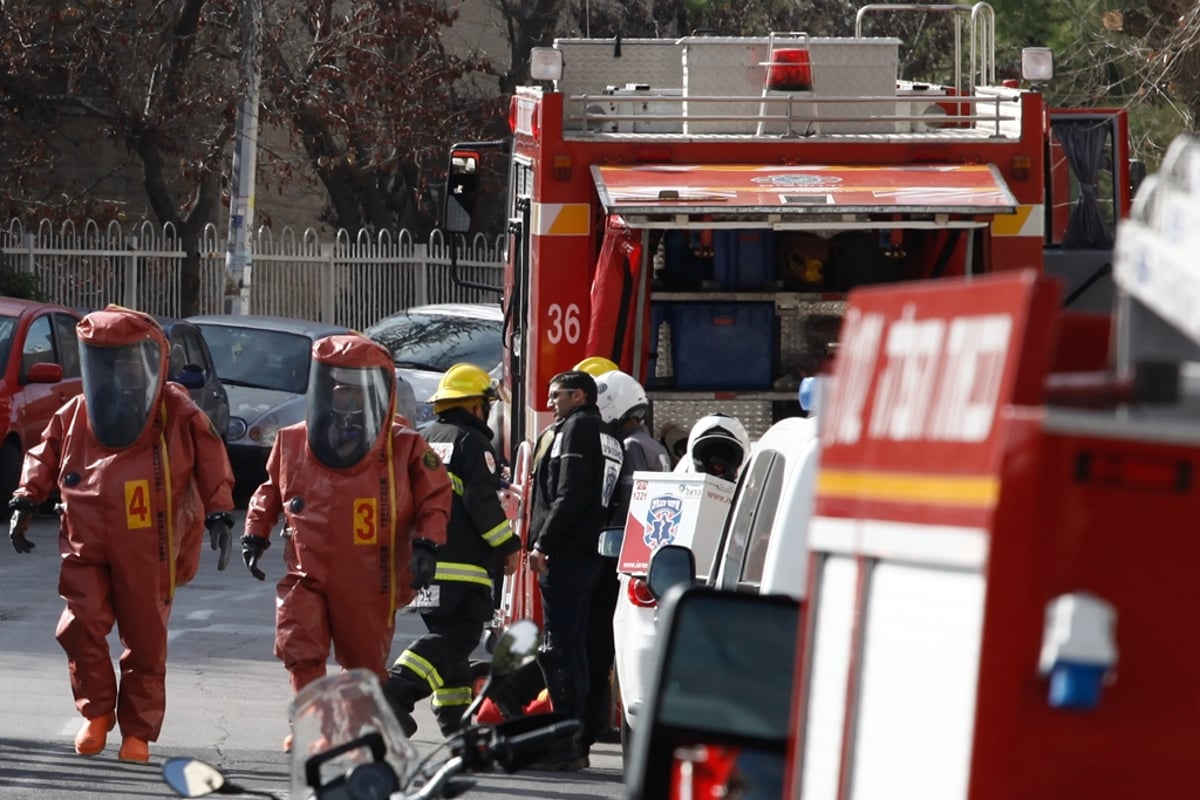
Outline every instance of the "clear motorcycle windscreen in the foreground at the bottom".
[(416, 748), (367, 669), (326, 675), (300, 690), (292, 702), (292, 734), (293, 800), (316, 798), (318, 789), (329, 794), (361, 764), (386, 764), (403, 787), (416, 763)]

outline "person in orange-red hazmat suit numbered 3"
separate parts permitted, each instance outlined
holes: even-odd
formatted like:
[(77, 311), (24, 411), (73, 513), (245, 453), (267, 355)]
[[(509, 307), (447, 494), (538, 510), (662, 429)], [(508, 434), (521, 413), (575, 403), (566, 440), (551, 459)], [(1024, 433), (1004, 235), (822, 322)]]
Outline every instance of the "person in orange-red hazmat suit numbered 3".
[(325, 675), (330, 644), (342, 668), (385, 681), (396, 609), (433, 581), (450, 476), (395, 402), (383, 347), (358, 333), (314, 342), (305, 422), (278, 432), (250, 499), (242, 559), (259, 581), (271, 528), (286, 519), (275, 656), (293, 691)]

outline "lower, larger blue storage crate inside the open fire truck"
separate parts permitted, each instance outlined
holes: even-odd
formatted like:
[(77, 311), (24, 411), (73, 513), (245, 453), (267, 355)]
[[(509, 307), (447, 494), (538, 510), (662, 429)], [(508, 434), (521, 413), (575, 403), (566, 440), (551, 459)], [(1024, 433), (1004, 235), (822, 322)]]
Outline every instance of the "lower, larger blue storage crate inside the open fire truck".
[(769, 389), (775, 303), (677, 303), (670, 309), (676, 389)]

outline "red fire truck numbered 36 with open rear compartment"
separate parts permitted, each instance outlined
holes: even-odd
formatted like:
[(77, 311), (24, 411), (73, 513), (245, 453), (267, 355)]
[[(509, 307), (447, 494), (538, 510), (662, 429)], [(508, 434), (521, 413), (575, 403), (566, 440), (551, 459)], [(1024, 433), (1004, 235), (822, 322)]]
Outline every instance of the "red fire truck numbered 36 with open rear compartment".
[[(953, 80), (899, 80), (899, 13), (947, 14)], [(869, 29), (872, 35), (864, 35)], [(655, 433), (703, 414), (751, 435), (799, 414), (846, 293), (1033, 269), (1108, 309), (1129, 206), (1121, 110), (1048, 109), (998, 80), (991, 7), (864, 6), (856, 36), (571, 38), (535, 48), (511, 101), (504, 287), (506, 456), (552, 416), (552, 375), (606, 356), (641, 379)], [(444, 225), (472, 230), (479, 145), (451, 154)], [(1103, 349), (1104, 342), (1098, 343)], [(536, 615), (532, 583), (511, 616)], [(521, 600), (523, 599), (523, 600)]]

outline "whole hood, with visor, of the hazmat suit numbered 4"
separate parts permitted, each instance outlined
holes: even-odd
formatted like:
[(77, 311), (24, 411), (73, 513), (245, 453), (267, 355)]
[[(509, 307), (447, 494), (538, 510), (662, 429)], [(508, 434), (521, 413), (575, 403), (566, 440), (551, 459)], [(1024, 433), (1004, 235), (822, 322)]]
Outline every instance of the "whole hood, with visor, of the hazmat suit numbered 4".
[(108, 306), (76, 325), (88, 425), (96, 439), (124, 450), (152, 427), (167, 374), (167, 337), (151, 317)]

